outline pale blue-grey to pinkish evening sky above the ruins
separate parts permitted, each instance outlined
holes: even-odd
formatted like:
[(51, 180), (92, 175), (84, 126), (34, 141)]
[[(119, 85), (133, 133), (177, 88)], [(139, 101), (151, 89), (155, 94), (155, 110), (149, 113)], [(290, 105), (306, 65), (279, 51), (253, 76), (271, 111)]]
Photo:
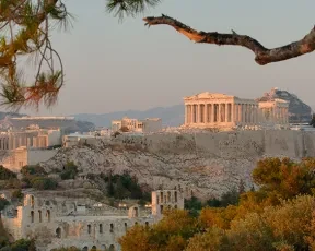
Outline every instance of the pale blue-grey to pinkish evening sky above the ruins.
[(265, 47), (301, 39), (314, 27), (314, 0), (164, 0), (122, 23), (105, 11), (105, 0), (66, 0), (75, 16), (69, 32), (54, 32), (66, 86), (58, 104), (30, 115), (106, 113), (183, 104), (201, 92), (243, 98), (272, 87), (296, 94), (315, 108), (315, 52), (258, 65), (245, 48), (194, 44), (170, 26), (151, 26), (143, 16), (161, 13), (206, 32), (250, 35)]

